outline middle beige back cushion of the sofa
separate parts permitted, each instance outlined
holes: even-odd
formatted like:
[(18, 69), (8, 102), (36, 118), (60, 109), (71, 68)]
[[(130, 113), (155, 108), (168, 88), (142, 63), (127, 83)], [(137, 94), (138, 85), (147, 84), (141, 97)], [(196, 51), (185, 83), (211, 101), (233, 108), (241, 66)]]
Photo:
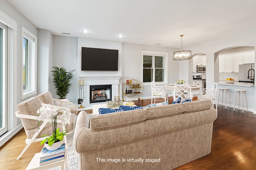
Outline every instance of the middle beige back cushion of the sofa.
[(159, 119), (181, 114), (185, 111), (184, 104), (169, 104), (158, 107), (146, 107), (147, 119)]

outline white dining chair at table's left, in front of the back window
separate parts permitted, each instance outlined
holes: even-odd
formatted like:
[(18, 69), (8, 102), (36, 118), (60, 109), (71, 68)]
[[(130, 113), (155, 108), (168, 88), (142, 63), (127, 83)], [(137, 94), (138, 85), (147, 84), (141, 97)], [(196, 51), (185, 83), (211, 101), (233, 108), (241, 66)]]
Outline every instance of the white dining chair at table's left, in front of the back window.
[[(151, 82), (151, 104), (156, 101), (168, 102), (168, 93), (164, 92), (164, 88), (162, 86), (156, 86), (155, 82)], [(156, 98), (163, 98), (164, 100), (156, 100)]]

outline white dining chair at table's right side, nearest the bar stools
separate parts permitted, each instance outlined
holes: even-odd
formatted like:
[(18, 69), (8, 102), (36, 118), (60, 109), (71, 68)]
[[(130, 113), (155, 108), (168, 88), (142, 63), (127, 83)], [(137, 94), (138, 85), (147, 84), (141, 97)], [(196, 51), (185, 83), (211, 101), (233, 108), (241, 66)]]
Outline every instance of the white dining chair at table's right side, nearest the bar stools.
[(218, 84), (214, 83), (214, 84), (212, 84), (212, 88), (204, 88), (202, 94), (197, 96), (197, 99), (198, 100), (211, 100), (212, 107), (214, 106), (214, 102), (215, 102), (216, 110), (218, 110), (218, 108), (217, 108), (217, 89), (218, 89)]

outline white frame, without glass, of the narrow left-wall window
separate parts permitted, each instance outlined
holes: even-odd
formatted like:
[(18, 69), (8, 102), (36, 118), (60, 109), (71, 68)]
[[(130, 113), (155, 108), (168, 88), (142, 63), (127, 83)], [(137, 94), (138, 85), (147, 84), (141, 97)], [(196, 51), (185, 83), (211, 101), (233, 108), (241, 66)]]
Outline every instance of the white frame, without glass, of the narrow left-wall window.
[[(23, 90), (23, 64), (24, 64), (24, 61), (23, 61), (23, 58), (24, 58), (24, 52), (23, 52), (23, 49), (24, 49), (24, 43), (23, 43), (23, 38), (26, 38), (28, 39), (30, 42), (32, 42), (30, 44), (30, 51), (29, 51), (29, 55), (28, 55), (28, 70), (29, 70), (29, 75), (28, 75), (28, 90)], [(30, 31), (28, 31), (26, 28), (22, 27), (22, 65), (21, 65), (21, 98), (24, 99), (24, 98), (27, 98), (27, 97), (30, 97), (34, 94), (36, 94), (36, 80), (37, 80), (37, 77), (36, 77), (36, 66), (37, 66), (37, 63), (36, 63), (36, 59), (37, 59), (37, 37), (32, 34)]]

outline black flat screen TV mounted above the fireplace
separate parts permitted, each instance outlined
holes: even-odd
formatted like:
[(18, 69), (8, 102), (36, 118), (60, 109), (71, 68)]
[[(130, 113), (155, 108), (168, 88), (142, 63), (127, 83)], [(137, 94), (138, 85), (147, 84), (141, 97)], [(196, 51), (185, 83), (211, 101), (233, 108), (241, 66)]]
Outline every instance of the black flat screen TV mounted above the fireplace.
[(118, 50), (82, 47), (82, 71), (117, 71)]

